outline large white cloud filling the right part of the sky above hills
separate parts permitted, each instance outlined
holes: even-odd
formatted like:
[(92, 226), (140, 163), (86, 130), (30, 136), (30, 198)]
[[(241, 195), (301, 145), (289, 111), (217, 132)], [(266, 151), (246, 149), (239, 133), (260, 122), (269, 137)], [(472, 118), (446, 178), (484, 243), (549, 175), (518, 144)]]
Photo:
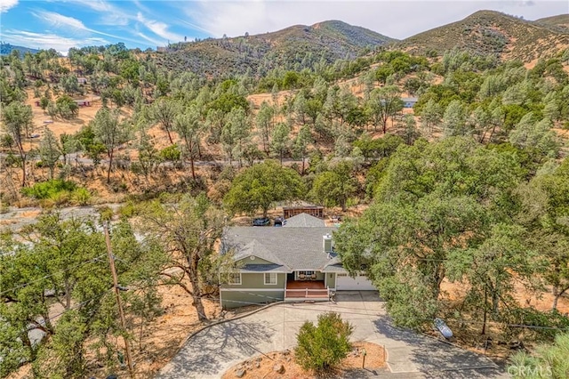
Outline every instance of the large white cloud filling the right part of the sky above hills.
[(201, 1), (181, 3), (191, 22), (213, 36), (243, 36), (265, 33), (291, 25), (312, 25), (324, 20), (342, 20), (370, 28), (386, 36), (405, 38), (429, 28), (461, 20), (482, 9), (496, 10), (525, 20), (566, 13), (566, 0), (325, 0), (325, 1)]

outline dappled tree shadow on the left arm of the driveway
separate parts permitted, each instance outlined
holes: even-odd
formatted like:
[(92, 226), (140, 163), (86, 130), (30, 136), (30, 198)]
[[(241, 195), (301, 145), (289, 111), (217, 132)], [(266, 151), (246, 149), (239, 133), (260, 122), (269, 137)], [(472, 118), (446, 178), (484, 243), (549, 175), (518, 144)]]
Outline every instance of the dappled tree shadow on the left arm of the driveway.
[(220, 377), (244, 358), (259, 354), (276, 329), (266, 322), (230, 321), (194, 335), (156, 378)]

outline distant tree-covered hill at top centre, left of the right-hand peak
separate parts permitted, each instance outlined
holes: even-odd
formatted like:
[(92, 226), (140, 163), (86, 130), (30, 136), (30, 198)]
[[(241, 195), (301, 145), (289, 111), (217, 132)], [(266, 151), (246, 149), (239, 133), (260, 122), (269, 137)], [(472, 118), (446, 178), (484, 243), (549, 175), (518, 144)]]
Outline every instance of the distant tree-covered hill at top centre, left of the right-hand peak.
[(394, 41), (366, 28), (338, 20), (295, 25), (276, 32), (174, 44), (156, 60), (168, 69), (207, 76), (265, 75), (269, 70), (306, 69), (339, 59), (354, 59)]

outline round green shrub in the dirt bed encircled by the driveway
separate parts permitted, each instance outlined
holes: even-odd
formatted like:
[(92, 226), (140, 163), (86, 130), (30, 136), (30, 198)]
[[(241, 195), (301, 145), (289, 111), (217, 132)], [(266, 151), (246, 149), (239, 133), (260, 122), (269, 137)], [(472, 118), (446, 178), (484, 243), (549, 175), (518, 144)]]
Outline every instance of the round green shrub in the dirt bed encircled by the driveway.
[(349, 336), (353, 327), (341, 316), (329, 312), (318, 316), (317, 327), (305, 322), (295, 349), (297, 363), (306, 370), (325, 371), (338, 365), (351, 350)]

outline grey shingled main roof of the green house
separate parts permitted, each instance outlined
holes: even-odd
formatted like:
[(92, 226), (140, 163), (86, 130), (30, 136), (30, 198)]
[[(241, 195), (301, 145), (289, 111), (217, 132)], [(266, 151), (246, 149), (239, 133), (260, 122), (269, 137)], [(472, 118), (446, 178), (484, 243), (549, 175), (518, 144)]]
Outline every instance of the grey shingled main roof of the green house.
[(234, 260), (255, 255), (293, 270), (324, 270), (338, 262), (336, 254), (324, 251), (323, 238), (336, 228), (232, 227), (226, 230), (223, 244), (235, 249)]

